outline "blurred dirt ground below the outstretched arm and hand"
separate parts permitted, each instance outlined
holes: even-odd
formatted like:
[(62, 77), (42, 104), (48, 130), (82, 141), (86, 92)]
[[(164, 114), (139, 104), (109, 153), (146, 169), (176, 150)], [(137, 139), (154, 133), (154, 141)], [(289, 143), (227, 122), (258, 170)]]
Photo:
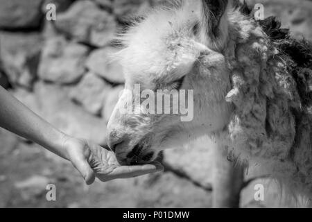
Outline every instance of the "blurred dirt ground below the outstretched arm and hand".
[[(0, 207), (210, 207), (211, 192), (172, 172), (87, 186), (69, 162), (0, 134)], [(56, 201), (46, 200), (47, 184)]]

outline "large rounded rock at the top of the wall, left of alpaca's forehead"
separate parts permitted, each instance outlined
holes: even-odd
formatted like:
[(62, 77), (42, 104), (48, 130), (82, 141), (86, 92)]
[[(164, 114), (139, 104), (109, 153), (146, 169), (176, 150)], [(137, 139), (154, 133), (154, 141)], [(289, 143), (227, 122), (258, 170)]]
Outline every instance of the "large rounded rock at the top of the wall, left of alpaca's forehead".
[(116, 22), (108, 12), (96, 7), (92, 1), (76, 1), (58, 15), (55, 27), (80, 42), (94, 46), (109, 44), (116, 31)]

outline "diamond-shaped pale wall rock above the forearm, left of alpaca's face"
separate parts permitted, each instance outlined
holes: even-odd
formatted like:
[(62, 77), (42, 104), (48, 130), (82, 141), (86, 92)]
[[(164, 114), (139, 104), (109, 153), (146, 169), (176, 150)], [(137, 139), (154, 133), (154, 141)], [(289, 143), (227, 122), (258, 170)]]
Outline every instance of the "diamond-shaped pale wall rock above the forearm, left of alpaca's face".
[(105, 81), (89, 72), (80, 83), (73, 88), (69, 97), (83, 105), (92, 114), (100, 114), (104, 105), (105, 96), (110, 89), (110, 85)]

